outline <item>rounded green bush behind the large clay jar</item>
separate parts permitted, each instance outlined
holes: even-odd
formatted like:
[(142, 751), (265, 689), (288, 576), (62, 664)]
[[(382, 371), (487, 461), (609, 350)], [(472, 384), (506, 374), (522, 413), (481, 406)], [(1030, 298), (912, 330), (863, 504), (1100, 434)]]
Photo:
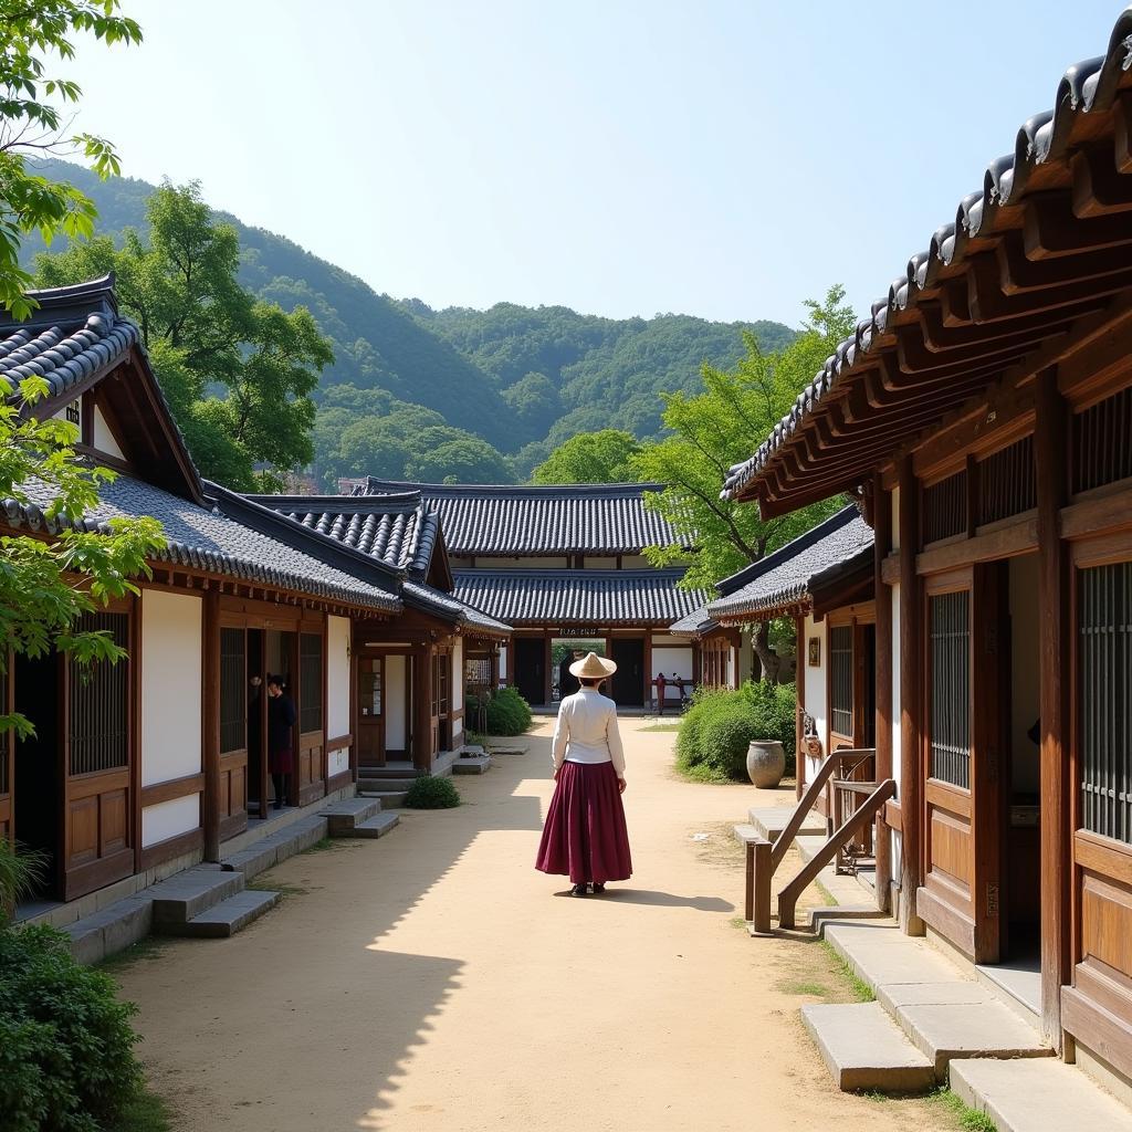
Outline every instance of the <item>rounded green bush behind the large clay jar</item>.
[(697, 692), (676, 737), (676, 765), (702, 781), (746, 781), (751, 740), (778, 739), (792, 773), (795, 710), (792, 684)]

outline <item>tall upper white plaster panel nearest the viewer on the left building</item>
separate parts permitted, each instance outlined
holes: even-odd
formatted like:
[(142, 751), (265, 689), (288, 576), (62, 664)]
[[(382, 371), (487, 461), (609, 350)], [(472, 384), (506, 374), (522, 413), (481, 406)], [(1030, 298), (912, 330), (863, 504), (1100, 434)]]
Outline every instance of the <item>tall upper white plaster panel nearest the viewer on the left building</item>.
[[(200, 598), (146, 590), (142, 598), (142, 784), (203, 767)], [(166, 804), (168, 805), (168, 804)], [(195, 827), (194, 820), (177, 833)]]

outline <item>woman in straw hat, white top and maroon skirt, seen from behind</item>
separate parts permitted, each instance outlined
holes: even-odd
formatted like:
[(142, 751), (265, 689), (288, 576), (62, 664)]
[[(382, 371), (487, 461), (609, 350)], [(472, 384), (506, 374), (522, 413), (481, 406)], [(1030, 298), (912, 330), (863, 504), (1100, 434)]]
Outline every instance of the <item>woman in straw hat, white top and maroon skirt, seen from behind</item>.
[(625, 825), (625, 753), (617, 705), (599, 691), (617, 664), (591, 652), (569, 668), (581, 687), (558, 707), (552, 747), (555, 792), (534, 867), (568, 876), (571, 894), (606, 891), (633, 875)]

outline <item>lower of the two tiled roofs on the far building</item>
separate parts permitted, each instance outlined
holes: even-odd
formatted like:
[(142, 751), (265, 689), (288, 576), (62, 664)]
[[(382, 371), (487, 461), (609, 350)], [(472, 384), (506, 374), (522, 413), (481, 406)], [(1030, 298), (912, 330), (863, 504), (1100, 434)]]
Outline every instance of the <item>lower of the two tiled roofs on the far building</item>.
[(670, 625), (703, 604), (681, 571), (454, 571), (456, 597), (509, 625)]

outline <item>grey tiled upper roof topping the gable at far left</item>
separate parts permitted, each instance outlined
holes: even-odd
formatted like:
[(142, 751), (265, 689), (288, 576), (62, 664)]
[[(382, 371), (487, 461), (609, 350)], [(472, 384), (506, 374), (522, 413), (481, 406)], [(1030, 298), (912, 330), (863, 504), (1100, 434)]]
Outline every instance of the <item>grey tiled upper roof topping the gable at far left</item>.
[(0, 377), (12, 385), (42, 377), (57, 397), (121, 360), (140, 341), (114, 306), (108, 276), (76, 286), (31, 291), (40, 307), (17, 323), (0, 315)]

